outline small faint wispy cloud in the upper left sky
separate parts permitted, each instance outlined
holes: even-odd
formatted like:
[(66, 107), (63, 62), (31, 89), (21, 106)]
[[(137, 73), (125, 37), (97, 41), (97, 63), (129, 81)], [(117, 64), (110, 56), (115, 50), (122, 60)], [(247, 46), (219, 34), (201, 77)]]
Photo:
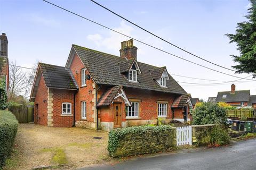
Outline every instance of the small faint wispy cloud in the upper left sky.
[(37, 24), (42, 24), (50, 27), (60, 27), (60, 23), (55, 21), (54, 19), (45, 18), (43, 16), (39, 16), (38, 14), (30, 14), (27, 16), (30, 21), (35, 22)]

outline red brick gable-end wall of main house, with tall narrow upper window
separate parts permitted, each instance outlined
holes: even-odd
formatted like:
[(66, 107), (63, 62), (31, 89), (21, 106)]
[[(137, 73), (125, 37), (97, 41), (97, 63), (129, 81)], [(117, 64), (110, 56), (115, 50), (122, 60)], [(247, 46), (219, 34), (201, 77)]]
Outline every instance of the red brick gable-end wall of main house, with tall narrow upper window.
[[(94, 90), (92, 87), (93, 80), (86, 80), (86, 87), (81, 87), (81, 69), (84, 69), (84, 65), (80, 58), (75, 54), (74, 59), (70, 65), (70, 70), (73, 73), (76, 82), (78, 83), (79, 90), (76, 94), (76, 121), (81, 120), (81, 101), (86, 101), (86, 119), (89, 122), (93, 122), (93, 111), (92, 111), (92, 91)], [(89, 72), (86, 70), (86, 74)]]

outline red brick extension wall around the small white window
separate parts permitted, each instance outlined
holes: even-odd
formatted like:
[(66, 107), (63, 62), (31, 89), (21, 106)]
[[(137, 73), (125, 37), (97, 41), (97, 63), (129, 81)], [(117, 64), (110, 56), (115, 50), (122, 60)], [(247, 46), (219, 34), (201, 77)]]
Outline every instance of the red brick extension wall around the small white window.
[[(71, 127), (74, 120), (74, 90), (52, 89), (53, 127)], [(62, 103), (71, 103), (71, 116), (62, 114)]]

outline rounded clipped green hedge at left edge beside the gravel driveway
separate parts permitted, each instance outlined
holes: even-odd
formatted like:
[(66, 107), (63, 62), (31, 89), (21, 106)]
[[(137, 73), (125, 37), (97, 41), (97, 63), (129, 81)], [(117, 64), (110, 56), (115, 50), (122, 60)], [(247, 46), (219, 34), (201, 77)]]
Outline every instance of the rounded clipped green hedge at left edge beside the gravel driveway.
[(0, 111), (0, 169), (11, 154), (17, 130), (18, 121), (15, 116), (9, 111)]

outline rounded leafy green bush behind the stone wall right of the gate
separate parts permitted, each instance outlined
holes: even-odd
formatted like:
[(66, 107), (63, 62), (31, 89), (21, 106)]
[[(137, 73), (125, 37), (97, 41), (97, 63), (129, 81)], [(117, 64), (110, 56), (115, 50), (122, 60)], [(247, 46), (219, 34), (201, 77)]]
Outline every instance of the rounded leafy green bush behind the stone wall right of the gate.
[(195, 125), (225, 123), (227, 119), (226, 108), (215, 103), (198, 105), (192, 111), (192, 116)]

